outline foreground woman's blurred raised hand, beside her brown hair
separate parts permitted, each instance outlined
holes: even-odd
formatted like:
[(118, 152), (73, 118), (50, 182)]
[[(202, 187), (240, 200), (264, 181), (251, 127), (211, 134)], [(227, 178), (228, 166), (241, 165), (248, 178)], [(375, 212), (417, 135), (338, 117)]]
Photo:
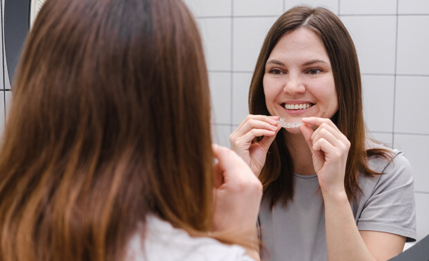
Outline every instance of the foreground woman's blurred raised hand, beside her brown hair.
[(255, 236), (262, 183), (232, 150), (213, 145), (215, 164), (214, 231)]

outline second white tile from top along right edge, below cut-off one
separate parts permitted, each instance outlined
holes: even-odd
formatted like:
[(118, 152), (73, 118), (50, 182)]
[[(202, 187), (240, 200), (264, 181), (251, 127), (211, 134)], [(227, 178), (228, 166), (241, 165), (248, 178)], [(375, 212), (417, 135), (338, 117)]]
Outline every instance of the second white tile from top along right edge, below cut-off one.
[(396, 73), (429, 75), (429, 16), (398, 18), (398, 57)]

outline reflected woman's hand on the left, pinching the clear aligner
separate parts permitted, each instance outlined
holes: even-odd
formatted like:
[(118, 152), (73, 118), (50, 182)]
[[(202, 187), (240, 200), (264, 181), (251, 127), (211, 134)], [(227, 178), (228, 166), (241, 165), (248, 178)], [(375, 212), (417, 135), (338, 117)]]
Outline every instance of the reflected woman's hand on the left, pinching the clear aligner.
[[(257, 176), (264, 167), (268, 148), (281, 129), (278, 119), (278, 116), (249, 114), (230, 135), (231, 149), (244, 159)], [(255, 142), (255, 138), (260, 136), (264, 138)]]

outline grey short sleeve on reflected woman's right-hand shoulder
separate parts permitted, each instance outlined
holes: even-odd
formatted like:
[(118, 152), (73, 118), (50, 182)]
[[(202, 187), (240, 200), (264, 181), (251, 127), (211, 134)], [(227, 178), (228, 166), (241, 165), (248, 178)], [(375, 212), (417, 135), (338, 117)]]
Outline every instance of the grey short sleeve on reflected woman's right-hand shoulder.
[[(416, 239), (416, 206), (413, 171), (403, 152), (395, 150), (392, 161), (377, 161), (378, 176), (372, 195), (358, 219), (358, 229), (401, 235), (407, 242)], [(383, 165), (380, 165), (384, 162)], [(385, 166), (385, 167), (384, 167)]]

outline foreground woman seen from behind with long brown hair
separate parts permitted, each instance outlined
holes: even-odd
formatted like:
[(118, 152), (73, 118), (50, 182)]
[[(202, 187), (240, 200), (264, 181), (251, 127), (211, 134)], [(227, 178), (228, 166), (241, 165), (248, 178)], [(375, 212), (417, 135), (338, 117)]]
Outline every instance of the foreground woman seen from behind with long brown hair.
[(0, 260), (259, 260), (262, 184), (212, 147), (209, 99), (181, 1), (47, 0), (0, 149)]

